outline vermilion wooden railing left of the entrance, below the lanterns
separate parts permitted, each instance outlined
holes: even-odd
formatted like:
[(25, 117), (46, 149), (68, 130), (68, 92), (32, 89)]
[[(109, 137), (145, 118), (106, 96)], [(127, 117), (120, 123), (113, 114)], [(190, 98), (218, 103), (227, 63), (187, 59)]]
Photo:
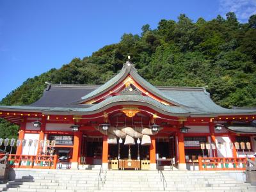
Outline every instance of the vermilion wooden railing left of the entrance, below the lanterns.
[[(4, 155), (0, 155), (0, 158)], [(38, 168), (38, 169), (56, 169), (58, 157), (55, 156), (29, 156), (14, 155), (8, 156), (8, 164), (11, 168)]]

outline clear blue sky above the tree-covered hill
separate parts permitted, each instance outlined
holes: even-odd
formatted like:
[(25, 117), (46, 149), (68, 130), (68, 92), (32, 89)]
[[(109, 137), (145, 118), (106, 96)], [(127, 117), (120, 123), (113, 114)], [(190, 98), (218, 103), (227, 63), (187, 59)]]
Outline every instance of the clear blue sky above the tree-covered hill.
[(29, 77), (90, 56), (124, 33), (140, 34), (144, 24), (154, 29), (180, 13), (196, 21), (229, 11), (247, 22), (256, 0), (0, 0), (0, 100)]

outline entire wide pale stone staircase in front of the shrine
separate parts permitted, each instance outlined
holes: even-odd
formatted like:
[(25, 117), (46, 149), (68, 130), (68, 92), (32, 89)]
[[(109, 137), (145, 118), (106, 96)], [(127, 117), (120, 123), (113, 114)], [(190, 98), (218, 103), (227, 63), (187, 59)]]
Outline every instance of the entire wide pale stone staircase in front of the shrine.
[[(163, 171), (167, 183), (165, 191), (256, 191), (256, 186), (251, 186), (230, 177), (230, 175), (233, 174), (234, 176), (236, 173), (239, 172)], [(160, 172), (157, 171), (103, 171), (99, 189), (99, 170), (16, 169), (11, 175), (11, 181), (7, 184), (0, 184), (0, 191), (164, 190)]]

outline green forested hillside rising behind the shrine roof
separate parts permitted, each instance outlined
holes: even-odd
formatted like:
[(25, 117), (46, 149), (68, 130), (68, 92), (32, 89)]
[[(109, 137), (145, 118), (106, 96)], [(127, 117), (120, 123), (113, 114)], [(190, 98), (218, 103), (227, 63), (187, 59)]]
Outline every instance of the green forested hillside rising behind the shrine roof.
[(35, 102), (45, 81), (105, 83), (130, 55), (139, 74), (154, 85), (207, 86), (214, 102), (221, 106), (256, 106), (256, 15), (244, 24), (234, 13), (226, 16), (193, 22), (182, 14), (177, 21), (160, 20), (157, 29), (145, 24), (140, 35), (124, 34), (118, 44), (29, 78), (1, 105)]

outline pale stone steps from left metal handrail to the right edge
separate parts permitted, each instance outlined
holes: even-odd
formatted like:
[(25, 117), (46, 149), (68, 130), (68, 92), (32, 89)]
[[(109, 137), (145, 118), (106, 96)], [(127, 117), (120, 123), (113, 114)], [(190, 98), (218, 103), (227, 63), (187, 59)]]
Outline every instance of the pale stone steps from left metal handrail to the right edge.
[(101, 191), (256, 191), (256, 186), (237, 181), (229, 172), (108, 171)]

